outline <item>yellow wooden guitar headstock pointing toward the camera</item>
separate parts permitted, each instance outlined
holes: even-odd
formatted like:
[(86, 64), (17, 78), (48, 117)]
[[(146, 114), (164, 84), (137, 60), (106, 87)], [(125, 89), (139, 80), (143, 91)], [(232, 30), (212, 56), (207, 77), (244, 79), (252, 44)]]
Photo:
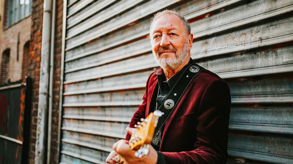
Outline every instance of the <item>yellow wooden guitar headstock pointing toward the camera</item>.
[(153, 139), (156, 125), (158, 123), (158, 116), (150, 113), (145, 119), (141, 119), (135, 127), (137, 130), (132, 133), (129, 140), (129, 146), (132, 150), (137, 150), (142, 144), (150, 144)]

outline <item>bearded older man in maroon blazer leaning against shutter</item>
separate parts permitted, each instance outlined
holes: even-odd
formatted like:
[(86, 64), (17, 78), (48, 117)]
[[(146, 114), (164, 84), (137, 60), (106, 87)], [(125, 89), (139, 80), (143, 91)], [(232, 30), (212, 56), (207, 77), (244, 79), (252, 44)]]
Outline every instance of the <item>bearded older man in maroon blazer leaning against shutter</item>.
[[(107, 163), (226, 163), (231, 105), (229, 86), (190, 58), (193, 34), (176, 11), (157, 13), (150, 27), (152, 51), (159, 69), (147, 80), (143, 103), (135, 112), (126, 140), (113, 145)], [(128, 141), (134, 125), (161, 111), (149, 153), (134, 156)]]

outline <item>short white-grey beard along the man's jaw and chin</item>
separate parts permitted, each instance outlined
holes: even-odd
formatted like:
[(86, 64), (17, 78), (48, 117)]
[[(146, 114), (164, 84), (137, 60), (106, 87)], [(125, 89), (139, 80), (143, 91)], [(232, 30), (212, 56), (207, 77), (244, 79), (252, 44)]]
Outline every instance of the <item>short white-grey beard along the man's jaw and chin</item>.
[(188, 39), (186, 39), (186, 42), (184, 44), (184, 47), (182, 50), (177, 51), (175, 57), (164, 57), (163, 55), (156, 54), (153, 52), (153, 55), (156, 59), (156, 63), (159, 64), (160, 67), (162, 67), (164, 70), (169, 69), (176, 69), (178, 68), (183, 62), (185, 62), (188, 58)]

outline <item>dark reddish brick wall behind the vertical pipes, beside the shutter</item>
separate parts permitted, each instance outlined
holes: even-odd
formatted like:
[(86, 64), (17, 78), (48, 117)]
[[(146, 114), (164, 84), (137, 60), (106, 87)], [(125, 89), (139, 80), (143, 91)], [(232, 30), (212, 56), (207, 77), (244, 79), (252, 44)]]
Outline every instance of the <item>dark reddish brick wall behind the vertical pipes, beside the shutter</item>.
[[(34, 163), (36, 127), (38, 114), (38, 94), (40, 78), (40, 56), (42, 45), (42, 19), (43, 1), (33, 0), (31, 28), (31, 46), (29, 72), (33, 78), (33, 97), (32, 97), (32, 122), (31, 138), (28, 163)], [(61, 45), (62, 45), (62, 17), (63, 0), (56, 0), (55, 16), (55, 43), (54, 43), (54, 71), (53, 71), (53, 95), (52, 95), (52, 133), (51, 133), (51, 163), (58, 163), (58, 122), (59, 122), (59, 88), (60, 88), (60, 67), (61, 67)]]

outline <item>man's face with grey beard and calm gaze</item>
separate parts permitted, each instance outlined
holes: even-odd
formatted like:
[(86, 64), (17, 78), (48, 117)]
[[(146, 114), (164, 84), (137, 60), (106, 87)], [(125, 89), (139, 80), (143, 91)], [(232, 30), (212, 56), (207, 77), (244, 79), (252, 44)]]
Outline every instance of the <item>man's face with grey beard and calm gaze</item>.
[(163, 69), (176, 69), (189, 59), (193, 42), (182, 20), (176, 15), (163, 15), (151, 29), (151, 47), (156, 62)]

